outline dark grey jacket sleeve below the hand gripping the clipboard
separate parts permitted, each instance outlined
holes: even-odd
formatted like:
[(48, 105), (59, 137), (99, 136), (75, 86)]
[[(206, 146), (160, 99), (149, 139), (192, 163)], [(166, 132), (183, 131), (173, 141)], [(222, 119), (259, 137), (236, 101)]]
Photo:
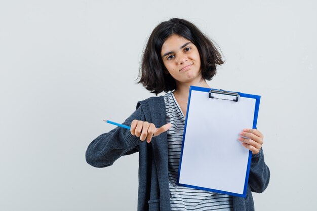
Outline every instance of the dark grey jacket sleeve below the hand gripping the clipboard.
[(262, 193), (270, 180), (270, 171), (264, 162), (264, 154), (261, 148), (258, 154), (252, 155), (249, 185), (251, 191)]

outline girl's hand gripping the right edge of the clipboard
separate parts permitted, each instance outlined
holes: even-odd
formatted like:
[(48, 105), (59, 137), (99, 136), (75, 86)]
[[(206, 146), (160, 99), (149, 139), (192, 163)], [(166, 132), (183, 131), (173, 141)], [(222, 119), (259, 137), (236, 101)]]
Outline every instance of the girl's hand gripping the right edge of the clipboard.
[(252, 151), (252, 154), (259, 153), (263, 144), (263, 135), (260, 131), (256, 129), (243, 129), (240, 133), (239, 141), (247, 149)]

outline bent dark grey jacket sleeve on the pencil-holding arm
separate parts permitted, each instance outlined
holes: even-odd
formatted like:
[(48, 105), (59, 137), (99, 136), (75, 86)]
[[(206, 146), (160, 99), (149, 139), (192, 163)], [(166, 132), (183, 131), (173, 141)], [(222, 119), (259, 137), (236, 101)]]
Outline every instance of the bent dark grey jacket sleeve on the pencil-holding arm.
[[(131, 125), (134, 119), (144, 120), (141, 106), (123, 124)], [(86, 150), (86, 161), (95, 167), (106, 167), (122, 155), (137, 152), (140, 143), (140, 139), (131, 135), (130, 130), (117, 127), (90, 143)]]

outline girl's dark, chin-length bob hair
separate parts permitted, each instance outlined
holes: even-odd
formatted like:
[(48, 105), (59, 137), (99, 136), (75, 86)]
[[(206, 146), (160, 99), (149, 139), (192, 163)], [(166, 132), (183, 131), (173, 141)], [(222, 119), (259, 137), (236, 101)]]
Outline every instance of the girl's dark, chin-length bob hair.
[(198, 49), (201, 58), (201, 71), (204, 79), (211, 80), (216, 74), (216, 66), (224, 61), (221, 54), (199, 28), (184, 19), (172, 18), (157, 25), (152, 31), (143, 52), (138, 83), (156, 95), (176, 89), (175, 79), (166, 74), (167, 69), (161, 57), (165, 40), (173, 34), (191, 41)]

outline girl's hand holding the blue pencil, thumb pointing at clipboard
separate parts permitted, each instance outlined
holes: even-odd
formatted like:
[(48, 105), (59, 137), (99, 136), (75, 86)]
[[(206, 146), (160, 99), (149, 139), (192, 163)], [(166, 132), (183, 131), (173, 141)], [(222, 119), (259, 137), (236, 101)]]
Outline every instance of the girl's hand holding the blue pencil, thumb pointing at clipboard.
[(146, 142), (150, 143), (153, 136), (159, 136), (168, 131), (171, 126), (171, 123), (167, 123), (161, 126), (161, 128), (156, 128), (153, 123), (134, 119), (131, 123), (130, 131), (133, 136), (140, 137), (141, 141), (145, 141), (146, 139)]

